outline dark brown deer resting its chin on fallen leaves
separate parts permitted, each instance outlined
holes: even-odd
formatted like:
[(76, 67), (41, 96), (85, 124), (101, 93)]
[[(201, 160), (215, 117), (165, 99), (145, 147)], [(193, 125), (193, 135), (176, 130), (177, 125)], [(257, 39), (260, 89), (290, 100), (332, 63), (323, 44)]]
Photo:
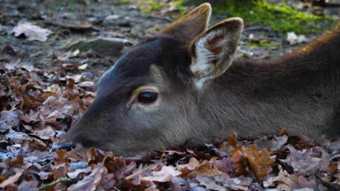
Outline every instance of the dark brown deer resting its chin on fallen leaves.
[(81, 119), (53, 145), (137, 155), (215, 138), (340, 135), (340, 25), (269, 61), (235, 58), (241, 18), (208, 28), (203, 3), (128, 50)]

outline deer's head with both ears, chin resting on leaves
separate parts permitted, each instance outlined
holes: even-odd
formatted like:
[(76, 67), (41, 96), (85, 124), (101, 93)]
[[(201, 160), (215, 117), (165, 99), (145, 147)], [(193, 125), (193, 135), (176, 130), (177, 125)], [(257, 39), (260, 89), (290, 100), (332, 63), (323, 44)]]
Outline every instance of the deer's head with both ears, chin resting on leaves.
[(204, 3), (126, 52), (103, 74), (94, 102), (54, 148), (131, 155), (202, 143), (209, 127), (200, 117), (200, 99), (231, 65), (243, 29), (241, 18), (207, 29), (210, 14)]

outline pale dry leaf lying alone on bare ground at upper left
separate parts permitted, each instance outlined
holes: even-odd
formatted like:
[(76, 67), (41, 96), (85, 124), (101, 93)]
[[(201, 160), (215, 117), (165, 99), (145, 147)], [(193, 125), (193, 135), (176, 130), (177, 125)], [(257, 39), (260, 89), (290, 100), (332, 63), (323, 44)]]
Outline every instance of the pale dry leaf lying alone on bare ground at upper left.
[(24, 34), (29, 41), (46, 41), (47, 36), (52, 33), (52, 31), (48, 29), (43, 29), (40, 26), (33, 25), (29, 22), (19, 22), (16, 25), (12, 32), (14, 33), (15, 37)]

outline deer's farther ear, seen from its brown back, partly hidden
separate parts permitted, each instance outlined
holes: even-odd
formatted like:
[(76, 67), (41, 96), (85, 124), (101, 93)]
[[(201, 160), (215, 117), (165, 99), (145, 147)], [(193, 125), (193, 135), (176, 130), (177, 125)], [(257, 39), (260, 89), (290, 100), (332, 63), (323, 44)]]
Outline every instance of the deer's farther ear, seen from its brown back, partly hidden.
[(164, 28), (161, 34), (171, 35), (189, 44), (195, 37), (207, 29), (210, 15), (210, 4), (207, 2), (203, 3), (176, 22)]

